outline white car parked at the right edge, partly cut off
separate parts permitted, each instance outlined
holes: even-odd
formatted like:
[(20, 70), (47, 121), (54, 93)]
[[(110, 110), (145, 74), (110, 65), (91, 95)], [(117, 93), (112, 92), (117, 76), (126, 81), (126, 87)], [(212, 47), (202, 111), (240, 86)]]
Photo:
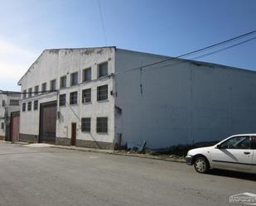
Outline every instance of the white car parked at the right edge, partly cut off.
[(256, 134), (234, 135), (215, 146), (193, 149), (185, 159), (199, 173), (216, 168), (256, 174)]

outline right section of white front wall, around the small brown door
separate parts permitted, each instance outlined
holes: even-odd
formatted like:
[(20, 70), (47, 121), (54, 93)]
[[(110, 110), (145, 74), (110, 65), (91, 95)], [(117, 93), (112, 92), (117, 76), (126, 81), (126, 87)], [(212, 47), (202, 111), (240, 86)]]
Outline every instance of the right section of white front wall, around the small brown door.
[[(60, 119), (57, 121), (56, 136), (71, 138), (71, 122), (76, 122), (77, 139), (88, 141), (114, 141), (114, 97), (110, 95), (113, 90), (113, 79), (98, 79), (98, 65), (108, 62), (109, 74), (114, 73), (114, 47), (88, 50), (74, 50), (66, 54), (60, 51), (59, 76), (67, 74), (67, 85), (70, 85), (70, 74), (79, 72), (80, 84), (68, 89), (60, 89), (60, 94), (66, 93), (65, 107), (59, 107)], [(83, 69), (91, 67), (92, 81), (82, 83)], [(108, 84), (108, 100), (97, 102), (97, 87)], [(91, 103), (82, 103), (82, 90), (91, 89)], [(70, 93), (78, 92), (78, 105), (69, 105)], [(81, 118), (91, 118), (91, 132), (81, 132)], [(96, 117), (108, 117), (108, 133), (96, 132)]]

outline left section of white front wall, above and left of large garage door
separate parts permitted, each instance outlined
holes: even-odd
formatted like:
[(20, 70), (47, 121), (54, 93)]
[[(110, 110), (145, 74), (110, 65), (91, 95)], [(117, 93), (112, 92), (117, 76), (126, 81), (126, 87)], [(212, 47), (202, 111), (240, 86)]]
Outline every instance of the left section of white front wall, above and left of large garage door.
[[(59, 55), (57, 50), (45, 50), (40, 57), (35, 61), (31, 68), (27, 71), (27, 74), (22, 77), (19, 84), (21, 84), (21, 91), (39, 86), (41, 91), (41, 84), (46, 82), (46, 89), (50, 89), (51, 79), (57, 79), (58, 77), (58, 65)], [(50, 96), (50, 97), (49, 97)], [(39, 117), (40, 117), (40, 103), (51, 102), (57, 99), (56, 93), (42, 94), (35, 96), (32, 94), (32, 98), (23, 98), (20, 105), (20, 133), (29, 135), (39, 135)], [(34, 110), (33, 101), (38, 100), (38, 109)], [(31, 111), (27, 111), (27, 103), (31, 102)], [(26, 103), (26, 112), (22, 112), (22, 103)]]

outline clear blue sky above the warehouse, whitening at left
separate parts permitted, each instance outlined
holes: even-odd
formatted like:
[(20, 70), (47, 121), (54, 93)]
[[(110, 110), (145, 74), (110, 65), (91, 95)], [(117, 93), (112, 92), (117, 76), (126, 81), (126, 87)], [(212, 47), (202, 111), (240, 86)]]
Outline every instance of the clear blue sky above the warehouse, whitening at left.
[[(0, 0), (0, 89), (19, 91), (45, 49), (177, 56), (256, 30), (255, 10), (255, 0)], [(200, 60), (256, 70), (255, 57), (256, 40)]]

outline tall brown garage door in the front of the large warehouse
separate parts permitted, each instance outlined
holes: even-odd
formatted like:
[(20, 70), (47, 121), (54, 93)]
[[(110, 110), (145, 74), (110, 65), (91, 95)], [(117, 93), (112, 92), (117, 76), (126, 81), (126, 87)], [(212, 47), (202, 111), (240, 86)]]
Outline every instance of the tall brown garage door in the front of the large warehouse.
[(56, 102), (41, 103), (40, 106), (40, 142), (56, 143)]

